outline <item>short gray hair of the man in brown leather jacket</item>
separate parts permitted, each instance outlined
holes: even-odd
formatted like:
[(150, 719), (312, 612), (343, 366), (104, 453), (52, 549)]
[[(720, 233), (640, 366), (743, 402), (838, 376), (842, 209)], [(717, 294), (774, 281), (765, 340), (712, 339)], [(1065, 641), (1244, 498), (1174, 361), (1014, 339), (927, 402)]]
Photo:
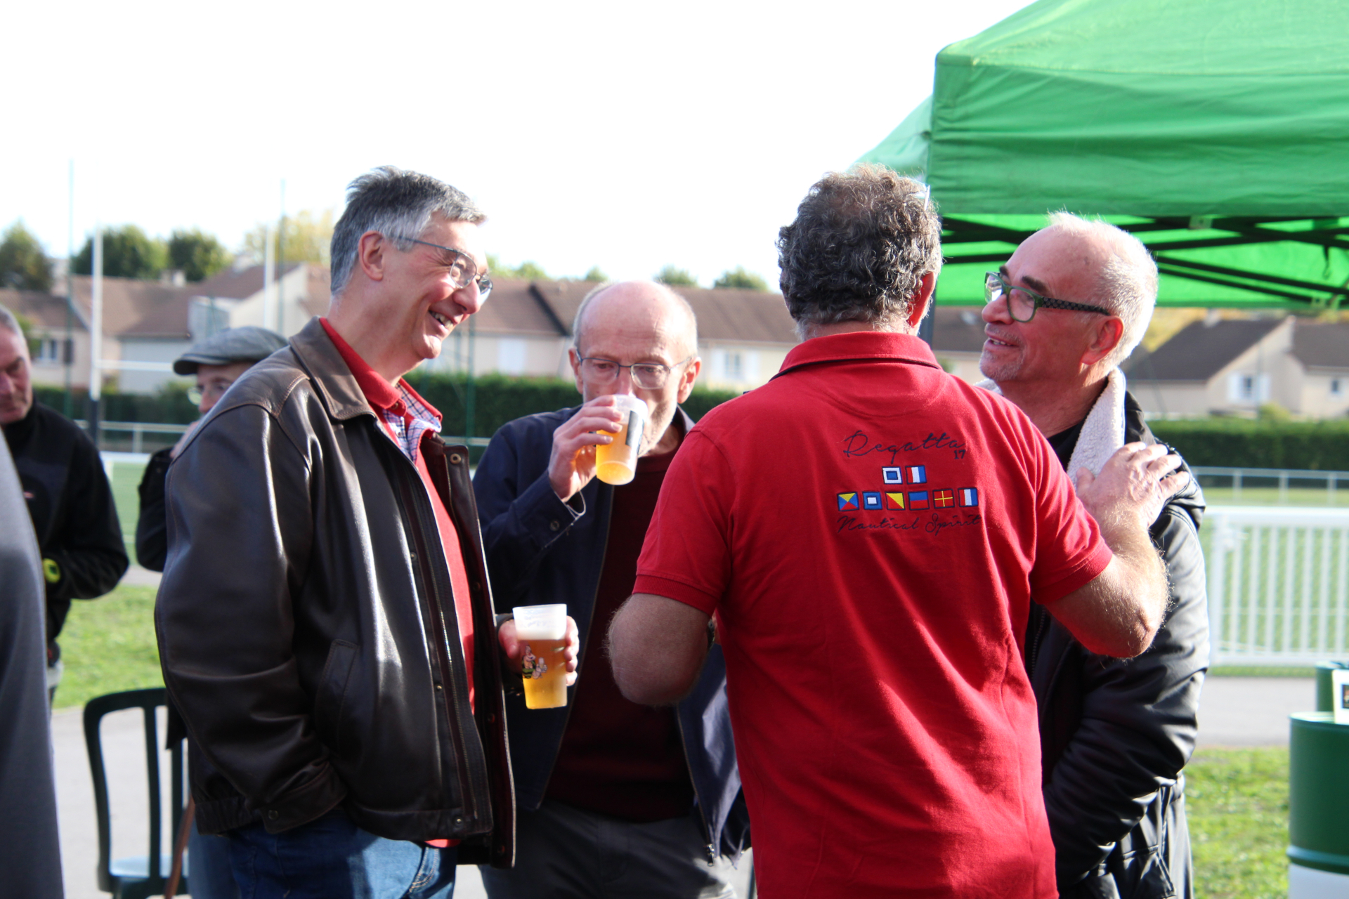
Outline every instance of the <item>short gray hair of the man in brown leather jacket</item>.
[(432, 213), (475, 225), (487, 218), (464, 191), (415, 171), (380, 166), (351, 182), (347, 209), (333, 228), (332, 294), (336, 297), (347, 286), (362, 235), (376, 230), (407, 249), (407, 239), (426, 230)]

